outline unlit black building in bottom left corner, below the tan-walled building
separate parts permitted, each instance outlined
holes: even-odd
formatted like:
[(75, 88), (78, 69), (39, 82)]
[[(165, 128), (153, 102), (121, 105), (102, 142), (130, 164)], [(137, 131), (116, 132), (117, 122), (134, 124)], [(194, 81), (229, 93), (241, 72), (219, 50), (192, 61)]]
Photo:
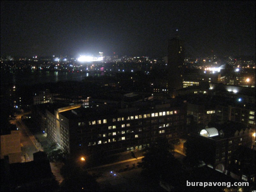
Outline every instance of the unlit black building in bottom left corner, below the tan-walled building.
[(58, 188), (46, 153), (39, 151), (33, 156), (34, 161), (26, 163), (9, 164), (8, 156), (1, 159), (1, 191), (53, 191)]

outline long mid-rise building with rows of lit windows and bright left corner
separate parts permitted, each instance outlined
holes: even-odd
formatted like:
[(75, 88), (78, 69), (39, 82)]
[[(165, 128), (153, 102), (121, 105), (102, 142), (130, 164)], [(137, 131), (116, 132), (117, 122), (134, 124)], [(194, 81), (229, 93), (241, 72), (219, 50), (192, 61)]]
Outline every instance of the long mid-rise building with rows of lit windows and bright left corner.
[(47, 135), (70, 153), (142, 149), (158, 137), (169, 140), (179, 137), (186, 125), (185, 105), (114, 114), (82, 107), (59, 113), (56, 110), (55, 114), (46, 110)]

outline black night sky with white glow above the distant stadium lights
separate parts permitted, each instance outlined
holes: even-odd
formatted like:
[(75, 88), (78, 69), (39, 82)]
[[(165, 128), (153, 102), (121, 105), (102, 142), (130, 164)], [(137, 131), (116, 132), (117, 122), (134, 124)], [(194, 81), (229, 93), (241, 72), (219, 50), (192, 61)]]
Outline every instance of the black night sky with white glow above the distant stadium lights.
[(1, 1), (1, 55), (167, 55), (176, 29), (186, 55), (255, 55), (255, 1)]

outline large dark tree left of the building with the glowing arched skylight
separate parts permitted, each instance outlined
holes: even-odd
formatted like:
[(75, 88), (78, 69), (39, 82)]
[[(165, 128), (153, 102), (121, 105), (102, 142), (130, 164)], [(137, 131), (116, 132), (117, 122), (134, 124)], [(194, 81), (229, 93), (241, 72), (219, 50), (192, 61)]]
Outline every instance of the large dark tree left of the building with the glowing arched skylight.
[(155, 181), (181, 172), (181, 164), (171, 154), (171, 145), (166, 138), (159, 138), (146, 149), (142, 158), (144, 173)]

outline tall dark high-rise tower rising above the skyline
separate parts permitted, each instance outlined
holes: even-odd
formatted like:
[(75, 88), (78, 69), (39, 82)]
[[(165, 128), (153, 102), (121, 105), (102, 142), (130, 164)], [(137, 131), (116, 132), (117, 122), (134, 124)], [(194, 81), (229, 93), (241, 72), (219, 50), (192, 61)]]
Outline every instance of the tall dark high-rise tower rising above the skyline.
[(183, 40), (177, 35), (168, 41), (168, 89), (177, 90), (183, 88), (183, 63), (184, 48)]

